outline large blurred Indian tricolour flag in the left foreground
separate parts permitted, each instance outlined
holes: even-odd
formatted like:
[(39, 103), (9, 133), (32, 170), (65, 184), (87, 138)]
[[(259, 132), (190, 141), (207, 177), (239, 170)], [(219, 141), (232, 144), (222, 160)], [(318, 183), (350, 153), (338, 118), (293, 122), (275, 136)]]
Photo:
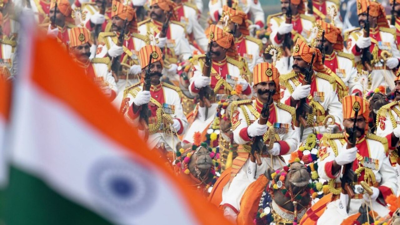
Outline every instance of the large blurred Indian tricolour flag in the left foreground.
[(227, 224), (43, 36), (20, 61), (5, 224)]

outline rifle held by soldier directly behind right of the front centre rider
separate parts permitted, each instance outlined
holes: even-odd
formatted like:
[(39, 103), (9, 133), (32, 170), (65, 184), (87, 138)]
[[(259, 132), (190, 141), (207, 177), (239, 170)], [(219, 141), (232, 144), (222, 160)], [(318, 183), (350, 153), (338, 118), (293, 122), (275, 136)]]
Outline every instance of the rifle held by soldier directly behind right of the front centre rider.
[[(308, 70), (306, 70), (304, 74), (304, 80), (302, 85), (311, 84), (311, 77), (313, 73), (312, 64), (314, 63), (314, 58), (315, 58), (315, 52), (312, 53), (310, 68), (308, 68)], [(312, 106), (307, 104), (306, 98), (300, 99), (296, 109), (296, 121), (295, 121), (295, 126), (296, 127), (300, 126), (300, 142), (302, 141), (304, 127), (308, 126), (306, 117), (308, 114), (311, 114), (312, 111), (313, 111)]]

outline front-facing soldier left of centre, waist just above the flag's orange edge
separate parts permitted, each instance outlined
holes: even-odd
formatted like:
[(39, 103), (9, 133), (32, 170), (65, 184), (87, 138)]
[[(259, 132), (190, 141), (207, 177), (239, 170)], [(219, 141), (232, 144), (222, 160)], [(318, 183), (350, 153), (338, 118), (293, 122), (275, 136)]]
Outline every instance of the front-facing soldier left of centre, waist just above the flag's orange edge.
[[(139, 51), (139, 56), (142, 80), (124, 91), (122, 113), (128, 121), (138, 126), (143, 119), (142, 109), (146, 105), (146, 108), (148, 107), (151, 111), (143, 112), (150, 114), (147, 122), (148, 146), (150, 149), (175, 151), (176, 144), (180, 142), (178, 135), (184, 134), (188, 126), (182, 109), (181, 90), (160, 82), (161, 71), (164, 67), (160, 48), (155, 45), (143, 46)], [(149, 64), (149, 59), (151, 64)], [(150, 90), (144, 89), (145, 75), (150, 76)]]

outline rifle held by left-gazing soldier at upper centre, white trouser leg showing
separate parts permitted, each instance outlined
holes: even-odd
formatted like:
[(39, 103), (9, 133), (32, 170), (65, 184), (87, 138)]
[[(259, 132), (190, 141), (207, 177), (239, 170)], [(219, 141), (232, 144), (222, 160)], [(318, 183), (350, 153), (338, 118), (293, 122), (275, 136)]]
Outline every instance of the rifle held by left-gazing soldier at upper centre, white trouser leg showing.
[[(203, 76), (207, 77), (210, 77), (211, 73), (211, 48), (213, 42), (214, 41), (210, 42), (210, 49), (208, 49), (208, 52), (206, 53), (206, 60), (203, 66)], [(214, 95), (214, 90), (212, 90), (210, 86), (205, 86), (201, 88), (199, 91), (200, 106), (201, 107), (206, 106), (206, 113), (205, 113), (206, 118), (204, 120), (206, 120), (208, 117), (208, 108), (211, 106), (210, 96), (212, 95)]]

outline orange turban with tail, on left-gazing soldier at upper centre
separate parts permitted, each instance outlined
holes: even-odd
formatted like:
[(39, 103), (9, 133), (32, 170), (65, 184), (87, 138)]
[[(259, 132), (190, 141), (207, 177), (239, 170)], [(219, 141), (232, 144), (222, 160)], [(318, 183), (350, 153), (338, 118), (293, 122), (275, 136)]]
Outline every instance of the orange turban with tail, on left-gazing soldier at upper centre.
[(214, 24), (210, 25), (210, 36), (208, 43), (210, 43), (211, 41), (215, 41), (222, 48), (228, 49), (228, 51), (226, 52), (227, 56), (230, 56), (232, 58), (237, 57), (237, 50), (235, 47), (233, 35)]

